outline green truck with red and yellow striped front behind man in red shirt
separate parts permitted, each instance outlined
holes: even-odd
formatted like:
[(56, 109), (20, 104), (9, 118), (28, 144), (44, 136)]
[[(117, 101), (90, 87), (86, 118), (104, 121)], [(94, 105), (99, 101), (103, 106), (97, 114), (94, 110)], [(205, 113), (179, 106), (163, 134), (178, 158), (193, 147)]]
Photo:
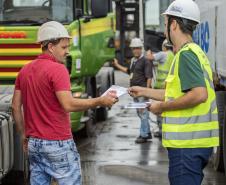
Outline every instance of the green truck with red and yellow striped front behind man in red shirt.
[[(111, 0), (0, 0), (0, 184), (9, 172), (27, 172), (10, 115), (12, 93), (20, 69), (41, 53), (36, 35), (49, 20), (64, 24), (72, 37), (65, 65), (74, 98), (97, 97), (114, 84), (113, 68), (103, 67), (114, 57)], [(72, 112), (72, 131), (105, 120), (107, 111)]]

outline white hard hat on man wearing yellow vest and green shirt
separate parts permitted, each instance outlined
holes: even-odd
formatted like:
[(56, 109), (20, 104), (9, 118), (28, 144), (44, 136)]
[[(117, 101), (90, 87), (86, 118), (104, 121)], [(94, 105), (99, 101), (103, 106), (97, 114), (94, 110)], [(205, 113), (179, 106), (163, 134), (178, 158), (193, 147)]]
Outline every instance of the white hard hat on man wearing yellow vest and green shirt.
[(193, 0), (175, 0), (163, 15), (172, 15), (200, 23), (200, 10)]

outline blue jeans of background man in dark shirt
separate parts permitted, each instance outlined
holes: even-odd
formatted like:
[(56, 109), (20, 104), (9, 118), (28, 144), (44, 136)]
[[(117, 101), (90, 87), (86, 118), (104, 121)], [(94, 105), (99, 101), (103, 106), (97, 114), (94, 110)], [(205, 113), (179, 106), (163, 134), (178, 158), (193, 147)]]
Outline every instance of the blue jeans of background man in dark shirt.
[[(134, 102), (147, 102), (148, 99), (144, 97), (134, 98)], [(137, 115), (140, 118), (140, 136), (147, 137), (150, 131), (149, 111), (148, 109), (137, 109)]]

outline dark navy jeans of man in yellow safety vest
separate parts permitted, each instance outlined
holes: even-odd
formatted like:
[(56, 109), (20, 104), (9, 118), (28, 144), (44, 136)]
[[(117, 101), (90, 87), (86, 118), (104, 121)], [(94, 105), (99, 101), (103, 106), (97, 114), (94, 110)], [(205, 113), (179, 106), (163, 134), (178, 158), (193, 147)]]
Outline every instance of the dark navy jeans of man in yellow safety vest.
[(170, 185), (201, 185), (213, 148), (168, 148)]

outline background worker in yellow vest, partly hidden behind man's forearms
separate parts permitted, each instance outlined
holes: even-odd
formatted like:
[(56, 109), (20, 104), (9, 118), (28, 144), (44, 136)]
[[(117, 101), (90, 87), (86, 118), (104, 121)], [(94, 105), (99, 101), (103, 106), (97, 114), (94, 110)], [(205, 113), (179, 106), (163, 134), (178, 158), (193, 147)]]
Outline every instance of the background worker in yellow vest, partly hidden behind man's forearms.
[[(153, 62), (154, 66), (157, 66), (154, 89), (165, 89), (165, 80), (174, 58), (172, 44), (165, 39), (162, 43), (162, 51), (153, 53), (151, 50), (148, 50), (146, 52), (146, 58)], [(162, 137), (162, 116), (157, 115), (156, 120), (159, 128), (154, 131), (154, 136)]]

